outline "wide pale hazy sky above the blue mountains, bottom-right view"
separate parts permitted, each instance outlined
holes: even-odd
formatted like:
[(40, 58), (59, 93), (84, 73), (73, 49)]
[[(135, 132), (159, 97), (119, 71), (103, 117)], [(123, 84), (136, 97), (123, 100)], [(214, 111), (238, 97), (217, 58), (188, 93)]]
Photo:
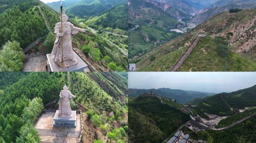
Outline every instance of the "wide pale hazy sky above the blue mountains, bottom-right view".
[(256, 72), (129, 72), (128, 87), (233, 92), (256, 85)]

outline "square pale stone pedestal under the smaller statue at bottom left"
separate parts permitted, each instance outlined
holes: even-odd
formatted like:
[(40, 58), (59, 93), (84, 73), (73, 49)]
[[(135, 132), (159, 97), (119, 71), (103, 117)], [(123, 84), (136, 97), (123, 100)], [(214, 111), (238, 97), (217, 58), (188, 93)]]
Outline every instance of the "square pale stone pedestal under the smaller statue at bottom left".
[(76, 127), (76, 111), (72, 111), (72, 118), (61, 118), (59, 112), (60, 110), (57, 110), (54, 115), (55, 127)]

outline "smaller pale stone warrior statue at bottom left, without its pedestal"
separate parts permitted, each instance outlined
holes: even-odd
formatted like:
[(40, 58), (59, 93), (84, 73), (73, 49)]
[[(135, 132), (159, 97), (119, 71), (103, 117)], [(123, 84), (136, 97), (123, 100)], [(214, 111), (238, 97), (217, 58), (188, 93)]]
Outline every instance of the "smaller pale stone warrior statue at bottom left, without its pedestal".
[(60, 92), (59, 101), (59, 116), (63, 118), (72, 118), (70, 100), (71, 98), (76, 98), (69, 90), (66, 85), (64, 85), (63, 90)]

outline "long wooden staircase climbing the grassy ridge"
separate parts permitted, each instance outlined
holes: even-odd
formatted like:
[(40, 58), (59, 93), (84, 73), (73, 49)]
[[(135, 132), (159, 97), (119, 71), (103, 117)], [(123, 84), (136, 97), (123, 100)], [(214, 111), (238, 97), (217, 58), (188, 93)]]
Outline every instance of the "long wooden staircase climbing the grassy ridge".
[(186, 52), (183, 51), (182, 55), (178, 58), (178, 60), (176, 61), (176, 63), (173, 64), (173, 66), (171, 67), (170, 71), (178, 71), (179, 67), (182, 66), (182, 64), (184, 63), (184, 61), (186, 60), (186, 58), (189, 57), (189, 55), (191, 54), (191, 52), (193, 51), (193, 49), (196, 47), (199, 39), (201, 37), (206, 36), (207, 33), (206, 32), (198, 32), (195, 36), (195, 38), (193, 39), (192, 43), (189, 44), (188, 48), (186, 48)]

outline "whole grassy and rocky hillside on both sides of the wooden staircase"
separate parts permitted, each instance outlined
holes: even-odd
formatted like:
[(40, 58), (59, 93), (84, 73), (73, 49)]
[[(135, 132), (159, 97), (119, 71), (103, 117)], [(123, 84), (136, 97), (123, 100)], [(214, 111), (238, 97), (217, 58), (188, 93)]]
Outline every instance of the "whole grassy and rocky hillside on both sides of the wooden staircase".
[(191, 32), (139, 58), (137, 71), (169, 71), (199, 31), (207, 32), (208, 36), (199, 39), (179, 71), (254, 71), (255, 16), (256, 9), (213, 16)]

